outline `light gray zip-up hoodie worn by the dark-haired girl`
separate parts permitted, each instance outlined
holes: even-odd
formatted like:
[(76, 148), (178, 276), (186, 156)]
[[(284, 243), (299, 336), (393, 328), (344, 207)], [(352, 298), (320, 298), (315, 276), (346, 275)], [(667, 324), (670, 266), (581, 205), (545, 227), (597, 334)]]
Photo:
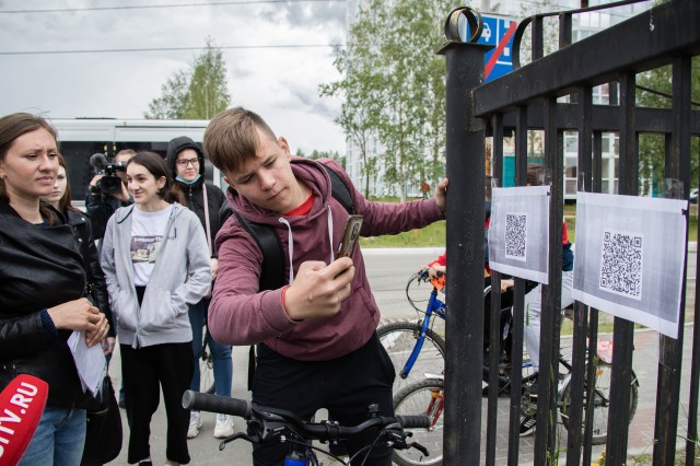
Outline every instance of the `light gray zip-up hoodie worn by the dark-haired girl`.
[(173, 205), (155, 267), (139, 306), (130, 255), (131, 212), (118, 209), (107, 223), (101, 263), (120, 343), (133, 348), (191, 341), (188, 305), (199, 302), (211, 286), (207, 237), (197, 215)]

